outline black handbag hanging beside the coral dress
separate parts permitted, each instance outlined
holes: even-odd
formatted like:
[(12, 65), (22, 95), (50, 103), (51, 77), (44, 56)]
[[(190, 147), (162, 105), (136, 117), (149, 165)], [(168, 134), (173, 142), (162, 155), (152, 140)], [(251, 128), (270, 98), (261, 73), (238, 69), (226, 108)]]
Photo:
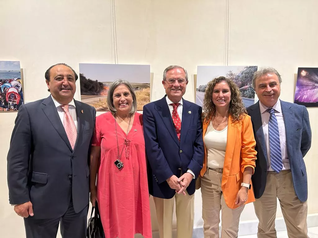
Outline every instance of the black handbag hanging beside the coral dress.
[[(93, 215), (93, 211), (95, 208), (95, 213)], [(103, 225), (101, 224), (100, 220), (100, 213), (98, 210), (97, 201), (95, 201), (95, 207), (92, 207), (91, 218), (88, 219), (88, 226), (87, 226), (87, 238), (105, 238)]]

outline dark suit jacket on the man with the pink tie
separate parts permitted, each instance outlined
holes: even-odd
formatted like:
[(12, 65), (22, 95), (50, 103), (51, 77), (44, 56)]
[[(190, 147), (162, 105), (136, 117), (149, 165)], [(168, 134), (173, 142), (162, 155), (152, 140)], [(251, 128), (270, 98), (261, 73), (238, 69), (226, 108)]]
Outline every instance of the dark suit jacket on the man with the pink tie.
[(34, 218), (62, 216), (89, 202), (88, 158), (96, 111), (74, 100), (78, 134), (74, 150), (52, 97), (19, 108), (7, 156), (10, 204), (32, 202)]

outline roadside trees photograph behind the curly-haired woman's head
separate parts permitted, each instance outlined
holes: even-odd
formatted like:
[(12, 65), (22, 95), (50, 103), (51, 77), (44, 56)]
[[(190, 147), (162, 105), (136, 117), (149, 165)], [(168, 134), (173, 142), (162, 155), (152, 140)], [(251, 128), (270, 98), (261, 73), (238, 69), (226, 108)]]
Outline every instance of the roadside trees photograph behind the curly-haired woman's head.
[(255, 90), (252, 78), (257, 66), (198, 66), (196, 104), (202, 106), (208, 83), (220, 76), (232, 79), (239, 87), (245, 107), (254, 104)]

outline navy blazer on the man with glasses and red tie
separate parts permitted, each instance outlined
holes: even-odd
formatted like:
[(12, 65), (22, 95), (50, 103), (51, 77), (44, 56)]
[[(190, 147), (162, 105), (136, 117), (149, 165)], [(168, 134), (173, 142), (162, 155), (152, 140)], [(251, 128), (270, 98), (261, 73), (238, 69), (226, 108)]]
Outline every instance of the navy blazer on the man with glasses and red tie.
[[(143, 107), (143, 130), (149, 162), (149, 193), (159, 198), (172, 198), (176, 191), (166, 182), (191, 169), (197, 177), (203, 166), (202, 108), (183, 99), (180, 142), (172, 122), (166, 96)], [(195, 191), (193, 179), (187, 192)]]

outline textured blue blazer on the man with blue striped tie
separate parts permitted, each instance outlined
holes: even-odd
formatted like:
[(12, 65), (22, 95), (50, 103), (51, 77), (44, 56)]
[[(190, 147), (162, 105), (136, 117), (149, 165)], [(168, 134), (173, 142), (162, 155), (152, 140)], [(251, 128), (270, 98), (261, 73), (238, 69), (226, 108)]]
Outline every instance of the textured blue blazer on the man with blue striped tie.
[[(308, 111), (305, 106), (281, 100), (280, 105), (284, 118), (287, 156), (292, 172), (294, 189), (298, 199), (301, 202), (305, 202), (308, 197), (308, 185), (303, 157), (311, 145)], [(265, 190), (268, 159), (259, 102), (248, 107), (247, 112), (252, 119), (256, 140), (255, 150), (257, 151), (256, 168), (252, 175), (252, 182), (255, 198), (260, 198)]]

